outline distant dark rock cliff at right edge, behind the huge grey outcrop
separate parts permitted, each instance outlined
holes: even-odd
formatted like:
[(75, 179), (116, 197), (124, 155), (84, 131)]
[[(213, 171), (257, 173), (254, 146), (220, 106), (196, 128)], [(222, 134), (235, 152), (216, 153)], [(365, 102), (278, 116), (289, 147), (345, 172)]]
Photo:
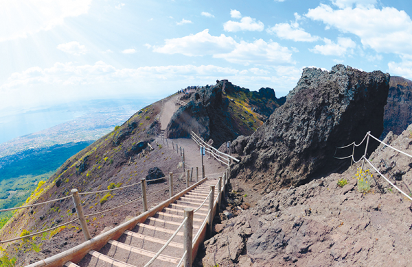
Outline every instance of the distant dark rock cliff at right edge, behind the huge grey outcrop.
[(389, 131), (399, 135), (412, 123), (412, 81), (392, 76), (389, 81), (388, 103), (385, 106), (382, 137)]

